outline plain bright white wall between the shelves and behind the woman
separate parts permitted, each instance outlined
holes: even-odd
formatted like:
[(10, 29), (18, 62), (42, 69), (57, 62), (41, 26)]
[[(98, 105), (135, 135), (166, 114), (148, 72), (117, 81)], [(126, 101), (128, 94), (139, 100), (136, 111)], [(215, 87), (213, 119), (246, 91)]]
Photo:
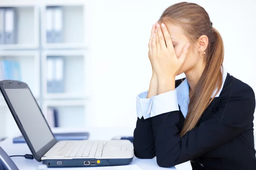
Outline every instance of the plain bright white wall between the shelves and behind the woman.
[[(151, 26), (180, 0), (22, 0), (22, 4), (85, 3), (90, 6), (93, 126), (135, 126), (136, 95), (148, 89), (147, 44)], [(224, 67), (256, 91), (256, 1), (194, 0), (209, 13), (225, 45)], [(1, 0), (0, 4), (20, 0)]]

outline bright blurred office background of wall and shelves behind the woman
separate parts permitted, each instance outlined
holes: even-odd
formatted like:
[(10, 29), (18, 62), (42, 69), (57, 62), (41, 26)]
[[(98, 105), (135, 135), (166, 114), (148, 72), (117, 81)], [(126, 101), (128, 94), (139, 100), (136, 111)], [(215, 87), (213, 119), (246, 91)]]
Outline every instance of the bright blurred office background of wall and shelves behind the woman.
[[(26, 82), (51, 127), (135, 127), (136, 96), (151, 78), (151, 26), (178, 2), (0, 0), (0, 80)], [(189, 2), (221, 33), (224, 68), (256, 91), (256, 1)], [(0, 95), (0, 138), (17, 132)]]

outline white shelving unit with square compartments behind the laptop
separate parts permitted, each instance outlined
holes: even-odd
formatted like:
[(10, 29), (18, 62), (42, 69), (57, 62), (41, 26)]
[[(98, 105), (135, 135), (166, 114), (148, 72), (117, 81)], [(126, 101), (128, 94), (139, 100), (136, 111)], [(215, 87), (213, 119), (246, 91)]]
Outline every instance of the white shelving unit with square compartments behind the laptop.
[[(56, 7), (62, 10), (62, 41), (47, 42), (47, 8)], [(48, 108), (58, 111), (59, 128), (84, 127), (87, 121), (89, 85), (87, 76), (89, 48), (87, 32), (88, 16), (84, 4), (38, 4), (15, 7), (17, 11), (17, 43), (0, 44), (0, 63), (2, 60), (13, 60), (20, 63), (21, 80), (26, 82), (48, 122)], [(47, 59), (61, 57), (63, 65), (62, 92), (47, 91)], [(1, 68), (1, 65), (0, 65)], [(1, 72), (1, 69), (0, 69)], [(19, 130), (0, 94), (0, 138), (11, 136)]]

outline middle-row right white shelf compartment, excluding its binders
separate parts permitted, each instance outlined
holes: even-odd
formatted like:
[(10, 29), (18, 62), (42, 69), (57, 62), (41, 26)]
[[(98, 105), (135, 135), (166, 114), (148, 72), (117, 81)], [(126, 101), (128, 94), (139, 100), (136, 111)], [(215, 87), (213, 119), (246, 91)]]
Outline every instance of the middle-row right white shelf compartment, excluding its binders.
[[(64, 93), (47, 93), (47, 57), (64, 57)], [(44, 51), (42, 63), (42, 93), (45, 99), (84, 99), (86, 95), (86, 51)]]

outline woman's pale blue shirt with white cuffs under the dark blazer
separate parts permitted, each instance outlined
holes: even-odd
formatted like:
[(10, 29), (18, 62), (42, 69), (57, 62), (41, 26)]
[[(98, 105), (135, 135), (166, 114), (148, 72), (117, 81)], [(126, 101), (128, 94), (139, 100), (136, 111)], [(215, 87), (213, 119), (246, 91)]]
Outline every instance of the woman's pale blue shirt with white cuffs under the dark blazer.
[[(222, 71), (222, 85), (221, 89), (218, 88), (212, 94), (212, 97), (220, 96), (222, 88), (224, 86), (225, 79), (227, 77), (227, 71), (225, 69)], [(173, 91), (169, 91), (157, 96), (152, 96), (146, 99), (148, 91), (145, 91), (137, 96), (137, 116), (138, 118), (148, 119), (153, 116), (157, 116), (163, 113), (168, 113), (171, 111), (180, 111), (186, 118), (189, 107), (189, 84), (187, 79), (185, 79), (180, 85)]]

